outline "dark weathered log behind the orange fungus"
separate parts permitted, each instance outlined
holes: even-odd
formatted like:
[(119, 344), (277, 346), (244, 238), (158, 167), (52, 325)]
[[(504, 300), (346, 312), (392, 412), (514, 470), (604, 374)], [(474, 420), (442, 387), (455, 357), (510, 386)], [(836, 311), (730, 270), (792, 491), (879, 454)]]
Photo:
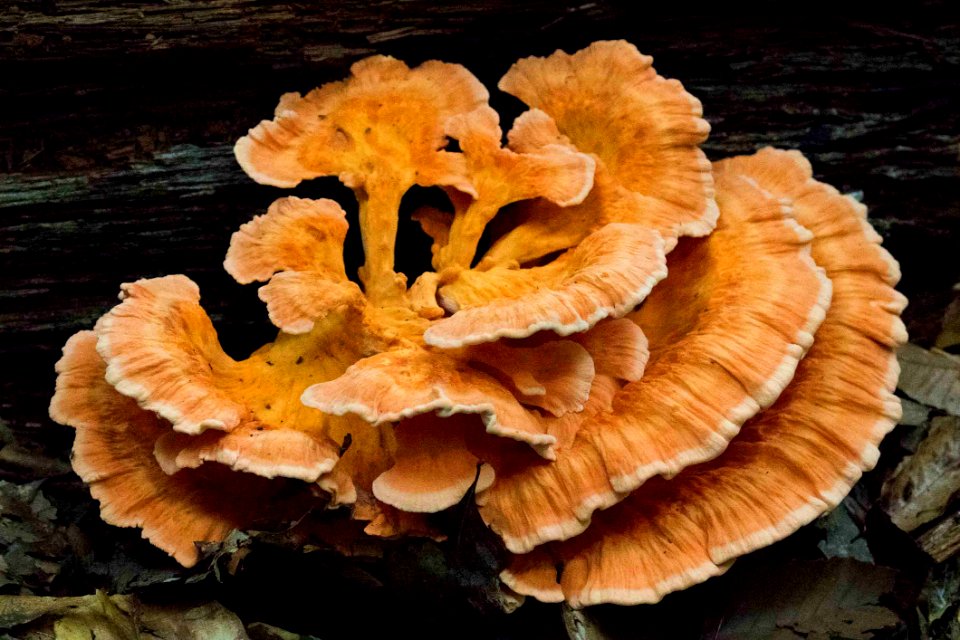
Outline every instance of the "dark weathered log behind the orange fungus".
[[(960, 27), (948, 3), (911, 3), (896, 19), (812, 6), (667, 18), (633, 4), (0, 0), (0, 420), (24, 448), (66, 459), (72, 436), (47, 417), (53, 365), (121, 282), (184, 273), (229, 353), (270, 340), (255, 287), (222, 260), (230, 234), (284, 192), (248, 179), (233, 143), (281, 93), (375, 53), (464, 64), (509, 123), (520, 104), (495, 85), (519, 57), (635, 43), (703, 101), (711, 159), (796, 148), (819, 179), (862, 192), (901, 262), (912, 340), (927, 345), (960, 281)], [(355, 207), (332, 179), (295, 193)], [(409, 275), (428, 246), (404, 228)], [(0, 478), (44, 474), (0, 461)]]

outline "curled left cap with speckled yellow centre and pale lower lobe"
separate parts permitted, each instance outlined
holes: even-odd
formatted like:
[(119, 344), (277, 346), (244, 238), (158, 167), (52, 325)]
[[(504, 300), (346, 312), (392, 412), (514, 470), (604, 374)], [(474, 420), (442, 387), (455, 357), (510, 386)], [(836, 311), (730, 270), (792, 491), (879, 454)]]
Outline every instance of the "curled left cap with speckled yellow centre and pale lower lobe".
[(124, 301), (97, 324), (107, 381), (178, 432), (231, 434), (168, 439), (161, 450), (168, 468), (217, 460), (267, 477), (295, 473), (308, 480), (330, 470), (338, 458), (339, 441), (330, 437), (337, 419), (302, 406), (299, 396), (310, 384), (342, 373), (367, 349), (359, 337), (327, 339), (343, 334), (344, 317), (328, 316), (304, 336), (281, 334), (237, 362), (220, 348), (197, 287), (186, 277), (140, 280), (123, 292)]

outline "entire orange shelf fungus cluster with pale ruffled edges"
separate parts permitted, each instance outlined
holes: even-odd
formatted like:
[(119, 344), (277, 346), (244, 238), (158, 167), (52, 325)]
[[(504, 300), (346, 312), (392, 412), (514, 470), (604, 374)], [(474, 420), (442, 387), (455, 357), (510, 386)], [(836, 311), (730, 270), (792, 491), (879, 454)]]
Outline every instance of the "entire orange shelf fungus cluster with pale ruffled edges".
[[(224, 263), (280, 329), (249, 358), (185, 276), (123, 285), (51, 404), (104, 520), (189, 566), (309, 509), (442, 534), (469, 495), (507, 585), (584, 606), (655, 602), (836, 506), (900, 415), (898, 266), (800, 153), (711, 164), (700, 102), (651, 64), (626, 42), (519, 61), (506, 144), (459, 65), (375, 56), (283, 96), (237, 159), (353, 189), (359, 283), (340, 205), (285, 197)], [(414, 185), (450, 207), (414, 214), (433, 270), (409, 283)]]

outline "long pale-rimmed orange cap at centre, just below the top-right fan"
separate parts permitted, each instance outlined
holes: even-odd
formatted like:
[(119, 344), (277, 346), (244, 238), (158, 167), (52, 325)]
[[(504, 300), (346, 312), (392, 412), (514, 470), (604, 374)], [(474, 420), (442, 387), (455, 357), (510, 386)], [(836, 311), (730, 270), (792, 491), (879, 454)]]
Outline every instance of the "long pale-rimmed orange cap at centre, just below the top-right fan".
[(633, 309), (666, 276), (665, 264), (656, 231), (607, 225), (543, 267), (461, 272), (440, 288), (444, 306), (457, 312), (423, 339), (449, 349), (544, 330), (583, 332)]

